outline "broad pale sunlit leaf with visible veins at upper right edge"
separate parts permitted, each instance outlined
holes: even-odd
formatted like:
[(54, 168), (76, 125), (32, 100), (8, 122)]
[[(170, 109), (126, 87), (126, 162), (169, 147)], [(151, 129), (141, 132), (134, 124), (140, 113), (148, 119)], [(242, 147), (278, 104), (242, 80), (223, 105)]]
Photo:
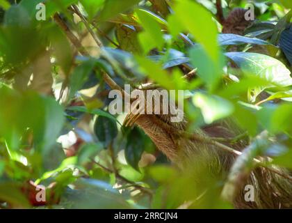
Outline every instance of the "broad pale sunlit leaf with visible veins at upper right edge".
[(253, 95), (250, 95), (250, 101), (252, 102), (264, 89), (272, 86), (292, 85), (290, 70), (281, 61), (273, 57), (248, 52), (229, 52), (225, 53), (225, 55), (232, 59), (246, 75), (257, 75), (270, 82), (270, 84), (265, 86), (250, 89), (250, 91), (253, 91)]

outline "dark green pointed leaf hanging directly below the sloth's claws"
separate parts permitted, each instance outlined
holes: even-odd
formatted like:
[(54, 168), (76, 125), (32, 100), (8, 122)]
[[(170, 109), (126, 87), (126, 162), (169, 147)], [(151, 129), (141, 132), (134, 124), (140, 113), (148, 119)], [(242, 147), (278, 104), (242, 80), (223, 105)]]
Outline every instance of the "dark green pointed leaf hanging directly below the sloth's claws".
[(138, 162), (141, 159), (144, 151), (144, 133), (138, 128), (133, 128), (127, 135), (127, 144), (124, 149), (124, 155), (128, 164), (134, 169), (139, 171)]

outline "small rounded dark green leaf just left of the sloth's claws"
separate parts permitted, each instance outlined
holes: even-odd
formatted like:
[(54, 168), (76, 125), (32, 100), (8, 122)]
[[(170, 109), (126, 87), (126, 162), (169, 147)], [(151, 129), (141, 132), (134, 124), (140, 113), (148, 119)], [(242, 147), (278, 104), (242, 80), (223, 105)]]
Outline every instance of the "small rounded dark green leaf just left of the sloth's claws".
[(104, 147), (107, 148), (115, 137), (117, 137), (117, 124), (113, 119), (104, 116), (98, 116), (95, 121), (94, 131)]

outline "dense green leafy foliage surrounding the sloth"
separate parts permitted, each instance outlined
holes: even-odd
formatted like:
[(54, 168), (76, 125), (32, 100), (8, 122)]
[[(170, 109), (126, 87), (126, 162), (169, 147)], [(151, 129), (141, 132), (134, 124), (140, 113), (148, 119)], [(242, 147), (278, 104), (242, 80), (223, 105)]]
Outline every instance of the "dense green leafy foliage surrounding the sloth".
[[(226, 15), (248, 3), (223, 2)], [(0, 0), (0, 208), (232, 208), (209, 160), (181, 173), (108, 112), (105, 74), (185, 90), (191, 128), (234, 118), (252, 144), (227, 190), (257, 155), (291, 169), (291, 1), (256, 2), (238, 36), (221, 33), (215, 1)]]

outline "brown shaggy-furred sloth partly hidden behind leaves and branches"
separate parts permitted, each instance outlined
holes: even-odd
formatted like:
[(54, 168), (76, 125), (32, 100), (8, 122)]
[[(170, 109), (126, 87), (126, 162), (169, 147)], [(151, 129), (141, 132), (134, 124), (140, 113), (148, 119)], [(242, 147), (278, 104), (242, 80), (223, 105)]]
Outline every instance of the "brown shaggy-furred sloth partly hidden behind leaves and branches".
[[(246, 10), (236, 8), (223, 21), (222, 33), (243, 35), (244, 30), (251, 24), (246, 21)], [(149, 100), (149, 99), (148, 99)], [(145, 102), (147, 104), (147, 101)], [(170, 105), (175, 106), (175, 105)], [(140, 111), (146, 108), (140, 108)], [(162, 109), (161, 109), (162, 111)], [(182, 110), (180, 112), (183, 112)], [(124, 125), (138, 125), (152, 139), (156, 147), (180, 169), (187, 169), (196, 160), (204, 160), (204, 165), (213, 176), (226, 180), (226, 175), (232, 168), (236, 155), (222, 151), (214, 144), (199, 140), (200, 137), (232, 138), (243, 134), (232, 118), (197, 128), (192, 132), (195, 137), (188, 137), (181, 132), (188, 130), (188, 120), (171, 121), (168, 114), (133, 114), (129, 112)], [(197, 137), (196, 137), (197, 136)], [(236, 151), (243, 151), (249, 144), (248, 139), (241, 139), (231, 146)], [(289, 171), (277, 167), (279, 173), (290, 176)], [(245, 185), (254, 187), (254, 202), (245, 201)], [(235, 208), (292, 208), (292, 181), (263, 167), (256, 167), (249, 176), (238, 185), (238, 193), (232, 198)]]

